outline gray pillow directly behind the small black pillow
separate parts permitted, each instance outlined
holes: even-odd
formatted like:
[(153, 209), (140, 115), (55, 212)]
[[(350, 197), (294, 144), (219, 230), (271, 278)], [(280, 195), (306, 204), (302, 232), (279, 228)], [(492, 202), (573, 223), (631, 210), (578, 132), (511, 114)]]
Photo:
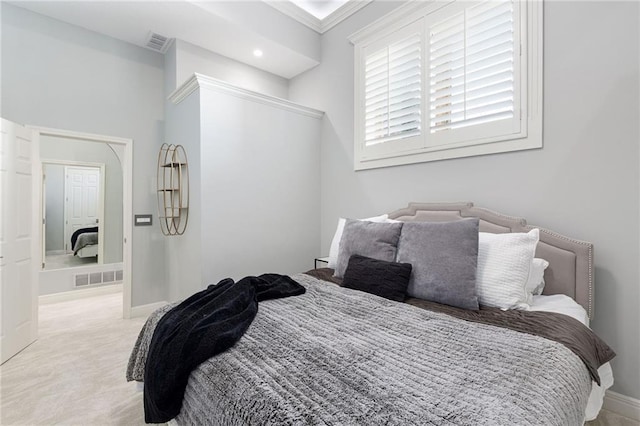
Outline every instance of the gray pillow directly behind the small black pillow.
[(376, 223), (347, 219), (340, 240), (335, 277), (342, 278), (354, 254), (393, 262), (402, 223)]

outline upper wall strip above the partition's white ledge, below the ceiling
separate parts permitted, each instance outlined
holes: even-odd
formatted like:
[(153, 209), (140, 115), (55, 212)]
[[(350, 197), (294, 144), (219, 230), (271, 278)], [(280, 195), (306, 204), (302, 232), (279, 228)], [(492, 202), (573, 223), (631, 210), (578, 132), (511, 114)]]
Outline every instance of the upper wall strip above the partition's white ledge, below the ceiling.
[(167, 77), (175, 78), (166, 85), (166, 89), (169, 90), (167, 95), (182, 85), (194, 73), (208, 75), (238, 87), (279, 98), (286, 98), (289, 94), (287, 79), (218, 55), (183, 40), (174, 40), (167, 55), (169, 59), (165, 62), (169, 70)]

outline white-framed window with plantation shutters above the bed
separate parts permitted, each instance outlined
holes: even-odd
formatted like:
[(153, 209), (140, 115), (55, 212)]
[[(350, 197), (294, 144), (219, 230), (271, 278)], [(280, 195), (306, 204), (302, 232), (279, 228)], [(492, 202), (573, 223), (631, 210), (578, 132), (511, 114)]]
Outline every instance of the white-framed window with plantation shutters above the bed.
[(353, 35), (356, 170), (541, 147), (541, 7), (412, 2)]

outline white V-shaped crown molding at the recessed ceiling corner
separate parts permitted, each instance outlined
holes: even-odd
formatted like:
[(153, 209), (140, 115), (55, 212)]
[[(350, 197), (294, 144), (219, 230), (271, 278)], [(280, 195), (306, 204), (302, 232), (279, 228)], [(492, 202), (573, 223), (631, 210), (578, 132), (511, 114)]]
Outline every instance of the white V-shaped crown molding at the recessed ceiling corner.
[(276, 9), (278, 12), (283, 13), (300, 22), (302, 25), (311, 28), (313, 31), (319, 34), (324, 34), (372, 1), (373, 0), (350, 0), (331, 12), (324, 19), (316, 18), (306, 10), (288, 1), (273, 0), (265, 1), (265, 3)]

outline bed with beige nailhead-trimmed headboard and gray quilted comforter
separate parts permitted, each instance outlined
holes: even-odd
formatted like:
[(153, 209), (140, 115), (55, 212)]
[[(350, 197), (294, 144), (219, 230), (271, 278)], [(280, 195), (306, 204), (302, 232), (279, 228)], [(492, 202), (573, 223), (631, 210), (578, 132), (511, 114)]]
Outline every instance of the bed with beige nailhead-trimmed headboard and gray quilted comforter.
[[(615, 354), (585, 326), (594, 312), (592, 244), (472, 203), (412, 203), (371, 219), (347, 222), (335, 269), (292, 275), (304, 294), (260, 302), (244, 336), (191, 372), (175, 423), (578, 425), (597, 415)], [(358, 282), (350, 275), (356, 260), (371, 264), (368, 253), (351, 255), (342, 277), (333, 276), (344, 266), (350, 232), (376, 222), (436, 236), (450, 227), (466, 227), (471, 235), (475, 226), (476, 238), (485, 238), (476, 247), (496, 234), (535, 234), (535, 257), (548, 262), (543, 295), (532, 296), (526, 309), (474, 310), (416, 297), (398, 302), (336, 285)], [(403, 238), (399, 245), (406, 244)], [(442, 249), (434, 256), (446, 263), (446, 254)], [(393, 268), (407, 264), (401, 255), (406, 258), (406, 249), (394, 253)], [(479, 276), (486, 258), (477, 259)], [(412, 279), (422, 273), (416, 268)], [(516, 269), (510, 264), (507, 272)], [(147, 320), (127, 380), (144, 378), (153, 331), (175, 306)]]

